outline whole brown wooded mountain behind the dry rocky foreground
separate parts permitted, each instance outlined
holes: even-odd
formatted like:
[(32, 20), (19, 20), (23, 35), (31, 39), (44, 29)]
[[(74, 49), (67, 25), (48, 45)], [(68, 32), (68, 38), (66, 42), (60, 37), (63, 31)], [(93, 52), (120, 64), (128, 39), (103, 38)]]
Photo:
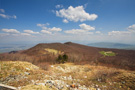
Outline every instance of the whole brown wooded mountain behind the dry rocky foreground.
[(0, 54), (0, 60), (28, 61), (35, 65), (55, 64), (59, 55), (64, 54), (68, 56), (68, 62), (75, 64), (103, 65), (135, 70), (135, 50), (97, 48), (73, 42), (40, 43), (21, 52)]

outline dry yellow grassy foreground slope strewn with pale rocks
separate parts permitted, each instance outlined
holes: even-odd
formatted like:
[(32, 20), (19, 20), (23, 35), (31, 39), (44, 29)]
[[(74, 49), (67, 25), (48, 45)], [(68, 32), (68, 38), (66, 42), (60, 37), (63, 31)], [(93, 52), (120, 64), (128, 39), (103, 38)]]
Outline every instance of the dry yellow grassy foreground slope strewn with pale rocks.
[(21, 61), (0, 62), (0, 83), (18, 90), (133, 90), (135, 72), (103, 66), (50, 65), (49, 70)]

